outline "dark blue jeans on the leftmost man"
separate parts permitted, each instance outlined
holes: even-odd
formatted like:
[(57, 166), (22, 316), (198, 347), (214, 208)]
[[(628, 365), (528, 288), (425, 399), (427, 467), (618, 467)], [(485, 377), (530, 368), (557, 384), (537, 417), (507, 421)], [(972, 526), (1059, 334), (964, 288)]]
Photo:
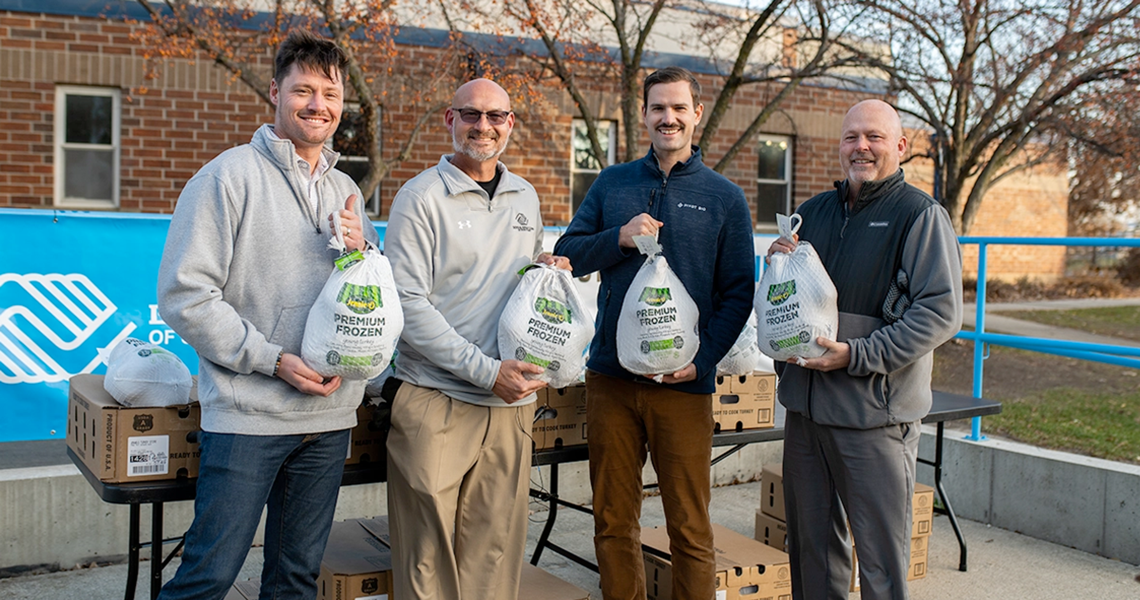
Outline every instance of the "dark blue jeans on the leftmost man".
[(340, 492), (349, 431), (255, 436), (203, 431), (182, 562), (161, 600), (221, 600), (268, 503), (261, 600), (312, 600)]

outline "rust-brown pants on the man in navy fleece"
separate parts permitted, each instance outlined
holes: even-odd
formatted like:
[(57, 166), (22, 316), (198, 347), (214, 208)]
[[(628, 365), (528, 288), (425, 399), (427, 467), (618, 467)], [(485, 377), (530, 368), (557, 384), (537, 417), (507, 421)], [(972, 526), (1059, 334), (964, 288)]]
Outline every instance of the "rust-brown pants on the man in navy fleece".
[(594, 548), (605, 600), (643, 600), (642, 468), (657, 471), (673, 554), (673, 598), (709, 600), (716, 589), (709, 521), (712, 398), (586, 373)]

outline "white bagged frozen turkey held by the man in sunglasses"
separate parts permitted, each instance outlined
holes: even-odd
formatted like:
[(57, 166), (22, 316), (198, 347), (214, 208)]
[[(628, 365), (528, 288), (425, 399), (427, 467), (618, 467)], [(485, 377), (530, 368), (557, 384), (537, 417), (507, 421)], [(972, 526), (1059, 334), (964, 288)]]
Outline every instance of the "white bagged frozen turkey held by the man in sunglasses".
[(544, 369), (527, 373), (528, 379), (567, 387), (586, 369), (586, 351), (593, 338), (593, 315), (583, 304), (570, 271), (528, 265), (499, 318), (499, 356)]

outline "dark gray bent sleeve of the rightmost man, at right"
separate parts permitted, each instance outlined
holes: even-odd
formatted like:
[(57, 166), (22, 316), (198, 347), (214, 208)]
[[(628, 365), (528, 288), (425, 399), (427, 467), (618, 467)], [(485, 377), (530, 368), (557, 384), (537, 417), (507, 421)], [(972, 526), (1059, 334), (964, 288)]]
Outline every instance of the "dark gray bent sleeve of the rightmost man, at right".
[(934, 205), (919, 215), (906, 236), (901, 268), (910, 279), (911, 305), (894, 323), (846, 340), (853, 376), (898, 370), (961, 329), (962, 249), (945, 208)]

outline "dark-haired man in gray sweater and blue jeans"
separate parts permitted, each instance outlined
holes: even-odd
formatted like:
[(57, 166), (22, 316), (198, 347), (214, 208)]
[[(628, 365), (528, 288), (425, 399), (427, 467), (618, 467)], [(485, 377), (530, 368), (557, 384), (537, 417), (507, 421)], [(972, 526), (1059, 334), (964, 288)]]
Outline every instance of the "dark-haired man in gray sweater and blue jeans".
[(182, 562), (164, 600), (221, 599), (268, 504), (261, 593), (315, 598), (364, 381), (301, 361), (306, 318), (336, 252), (376, 231), (360, 190), (324, 147), (340, 123), (348, 60), (292, 33), (275, 59), (272, 125), (202, 167), (182, 189), (158, 271), (158, 310), (198, 353), (201, 474)]

